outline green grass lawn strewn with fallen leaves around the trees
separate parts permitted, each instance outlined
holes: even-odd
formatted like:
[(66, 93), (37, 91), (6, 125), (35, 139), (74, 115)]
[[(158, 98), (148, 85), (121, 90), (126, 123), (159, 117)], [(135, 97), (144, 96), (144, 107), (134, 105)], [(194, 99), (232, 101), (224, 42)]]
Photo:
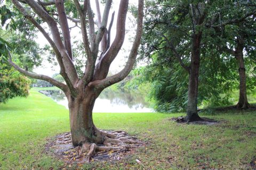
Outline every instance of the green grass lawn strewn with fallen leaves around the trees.
[[(146, 148), (119, 162), (84, 164), (82, 169), (252, 169), (256, 156), (256, 112), (203, 115), (219, 125), (177, 124), (181, 114), (94, 113), (100, 129), (125, 130), (148, 141)], [(31, 90), (27, 98), (0, 104), (0, 169), (59, 169), (59, 160), (43, 153), (47, 138), (69, 131), (64, 106)], [(141, 160), (138, 165), (135, 159)], [(66, 167), (75, 169), (75, 167)]]

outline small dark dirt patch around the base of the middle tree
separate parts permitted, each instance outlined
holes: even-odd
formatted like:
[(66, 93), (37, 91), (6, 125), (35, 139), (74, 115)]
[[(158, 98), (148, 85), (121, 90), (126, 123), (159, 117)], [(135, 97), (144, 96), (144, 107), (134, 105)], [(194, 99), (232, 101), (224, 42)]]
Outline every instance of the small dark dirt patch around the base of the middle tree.
[(201, 120), (193, 121), (193, 122), (187, 122), (185, 120), (185, 117), (183, 117), (183, 116), (181, 116), (181, 117), (172, 117), (170, 120), (174, 121), (174, 122), (178, 122), (178, 123), (187, 123), (187, 124), (215, 125), (215, 124), (220, 123), (219, 121), (215, 121), (215, 120), (212, 120), (210, 118), (205, 118), (205, 117), (202, 117)]

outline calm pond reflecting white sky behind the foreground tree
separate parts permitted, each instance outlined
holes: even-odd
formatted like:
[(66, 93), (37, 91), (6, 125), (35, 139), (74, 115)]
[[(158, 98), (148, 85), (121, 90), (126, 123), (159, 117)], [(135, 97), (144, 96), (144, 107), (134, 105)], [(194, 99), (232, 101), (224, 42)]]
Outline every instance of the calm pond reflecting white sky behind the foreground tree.
[[(61, 90), (39, 91), (51, 97), (58, 104), (68, 108), (68, 100)], [(93, 112), (99, 113), (129, 113), (153, 112), (140, 92), (105, 89), (96, 99)]]

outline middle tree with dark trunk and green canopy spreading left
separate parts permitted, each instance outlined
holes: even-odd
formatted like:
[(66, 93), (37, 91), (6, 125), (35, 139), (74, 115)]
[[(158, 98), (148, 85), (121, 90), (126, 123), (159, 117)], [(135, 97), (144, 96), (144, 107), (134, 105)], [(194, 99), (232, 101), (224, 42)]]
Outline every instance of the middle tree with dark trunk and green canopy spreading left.
[(146, 40), (145, 46), (150, 47), (150, 42), (156, 42), (153, 44), (153, 51), (168, 50), (185, 69), (189, 75), (186, 121), (201, 120), (197, 114), (198, 78), (201, 41), (210, 2), (150, 2), (154, 8), (148, 10), (149, 38), (146, 38), (148, 41)]

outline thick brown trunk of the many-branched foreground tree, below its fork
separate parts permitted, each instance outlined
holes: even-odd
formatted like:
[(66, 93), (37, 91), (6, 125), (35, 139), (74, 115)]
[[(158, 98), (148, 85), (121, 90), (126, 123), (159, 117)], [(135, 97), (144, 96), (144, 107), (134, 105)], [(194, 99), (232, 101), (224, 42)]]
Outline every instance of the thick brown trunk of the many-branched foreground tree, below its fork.
[(69, 97), (68, 99), (71, 139), (74, 146), (81, 146), (85, 142), (103, 143), (102, 134), (92, 120), (95, 96), (93, 91), (89, 91), (86, 92), (86, 95), (79, 95), (75, 99)]

